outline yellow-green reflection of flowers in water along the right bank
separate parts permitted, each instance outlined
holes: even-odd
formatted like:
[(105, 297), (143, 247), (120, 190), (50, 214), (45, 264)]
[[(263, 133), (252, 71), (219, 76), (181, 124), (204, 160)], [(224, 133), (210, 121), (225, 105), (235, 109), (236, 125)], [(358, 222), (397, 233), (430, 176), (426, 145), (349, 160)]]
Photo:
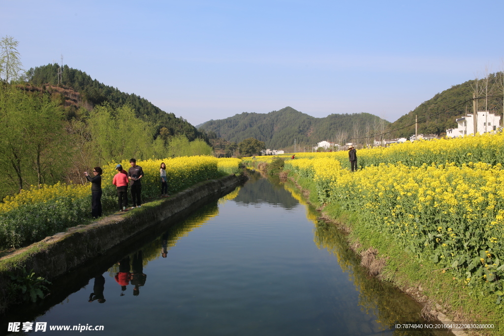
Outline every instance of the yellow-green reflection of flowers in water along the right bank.
[[(345, 235), (332, 224), (316, 223), (314, 241), (319, 248), (325, 248), (336, 255), (343, 272), (349, 274), (359, 292), (359, 305), (367, 314), (374, 314), (377, 323), (383, 328), (394, 328), (394, 324), (402, 322), (424, 322), (420, 318), (421, 307), (406, 294), (397, 290), (391, 283), (382, 282), (367, 274), (360, 266), (360, 259), (348, 248)], [(401, 331), (395, 330), (395, 335), (435, 335), (430, 330)], [(441, 332), (439, 332), (441, 334)], [(446, 333), (445, 333), (446, 334)]]

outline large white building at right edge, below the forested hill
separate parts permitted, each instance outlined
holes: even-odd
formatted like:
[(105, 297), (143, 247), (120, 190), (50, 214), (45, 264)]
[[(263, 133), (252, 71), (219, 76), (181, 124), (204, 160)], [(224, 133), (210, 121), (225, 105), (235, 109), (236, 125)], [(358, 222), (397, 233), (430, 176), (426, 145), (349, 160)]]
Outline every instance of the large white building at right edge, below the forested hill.
[[(465, 136), (474, 134), (474, 119), (473, 113), (465, 117), (457, 118), (457, 128), (447, 129), (446, 136), (448, 138), (456, 138), (458, 136)], [(488, 111), (478, 111), (476, 118), (477, 128), (476, 131), (481, 133), (491, 132), (497, 129), (500, 124), (500, 115), (495, 115)]]

